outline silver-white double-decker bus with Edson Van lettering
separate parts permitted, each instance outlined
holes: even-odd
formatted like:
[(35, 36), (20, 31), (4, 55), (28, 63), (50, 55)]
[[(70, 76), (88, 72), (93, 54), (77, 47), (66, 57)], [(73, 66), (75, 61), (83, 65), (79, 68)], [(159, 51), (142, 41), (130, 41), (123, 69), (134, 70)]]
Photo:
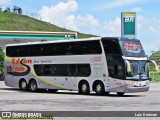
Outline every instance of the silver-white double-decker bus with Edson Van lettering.
[(5, 51), (5, 84), (30, 91), (144, 92), (148, 63), (156, 66), (139, 40), (119, 37), (10, 44)]

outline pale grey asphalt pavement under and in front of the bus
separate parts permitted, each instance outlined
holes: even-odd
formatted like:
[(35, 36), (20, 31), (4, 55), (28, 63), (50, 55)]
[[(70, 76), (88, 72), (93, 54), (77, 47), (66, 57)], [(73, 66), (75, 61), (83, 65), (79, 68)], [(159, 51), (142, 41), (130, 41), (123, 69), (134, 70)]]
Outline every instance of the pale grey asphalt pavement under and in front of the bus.
[(0, 81), (0, 111), (160, 111), (160, 83), (151, 84), (148, 92), (126, 93), (120, 97), (116, 93), (97, 96), (73, 91), (32, 93), (6, 87)]

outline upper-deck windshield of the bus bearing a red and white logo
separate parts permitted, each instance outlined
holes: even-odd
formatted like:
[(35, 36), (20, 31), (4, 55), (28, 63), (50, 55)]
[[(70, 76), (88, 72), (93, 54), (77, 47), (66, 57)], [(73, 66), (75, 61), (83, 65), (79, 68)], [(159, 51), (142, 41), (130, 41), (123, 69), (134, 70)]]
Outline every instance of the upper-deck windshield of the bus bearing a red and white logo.
[(121, 40), (122, 54), (126, 57), (145, 57), (144, 49), (139, 40)]

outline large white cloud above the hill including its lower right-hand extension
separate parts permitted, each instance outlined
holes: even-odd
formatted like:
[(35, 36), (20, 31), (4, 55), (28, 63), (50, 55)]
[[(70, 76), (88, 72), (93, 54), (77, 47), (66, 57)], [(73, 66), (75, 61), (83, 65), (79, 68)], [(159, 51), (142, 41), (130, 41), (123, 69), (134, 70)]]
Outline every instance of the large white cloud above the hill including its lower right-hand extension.
[(74, 12), (78, 10), (75, 0), (68, 0), (66, 3), (59, 2), (55, 6), (43, 6), (39, 11), (41, 19), (67, 29), (79, 31), (80, 27), (95, 28), (99, 21), (91, 14), (76, 16)]

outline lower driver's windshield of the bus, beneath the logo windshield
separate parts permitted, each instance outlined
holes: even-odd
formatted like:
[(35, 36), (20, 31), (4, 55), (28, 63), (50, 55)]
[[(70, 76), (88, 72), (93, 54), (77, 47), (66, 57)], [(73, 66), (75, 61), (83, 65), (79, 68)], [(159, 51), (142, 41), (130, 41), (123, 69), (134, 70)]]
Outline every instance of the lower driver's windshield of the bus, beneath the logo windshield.
[(146, 61), (130, 60), (131, 72), (126, 72), (126, 79), (146, 80), (148, 79), (148, 69)]

